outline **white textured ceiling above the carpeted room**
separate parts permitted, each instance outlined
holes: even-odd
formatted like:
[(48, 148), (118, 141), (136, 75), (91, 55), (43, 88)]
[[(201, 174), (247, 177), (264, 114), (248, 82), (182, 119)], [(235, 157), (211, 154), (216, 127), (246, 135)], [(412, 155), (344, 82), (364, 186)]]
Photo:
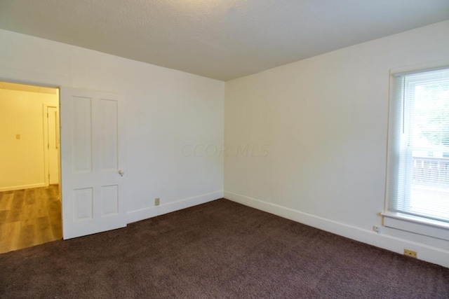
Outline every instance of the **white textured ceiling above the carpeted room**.
[(449, 0), (0, 0), (1, 29), (222, 81), (448, 19)]

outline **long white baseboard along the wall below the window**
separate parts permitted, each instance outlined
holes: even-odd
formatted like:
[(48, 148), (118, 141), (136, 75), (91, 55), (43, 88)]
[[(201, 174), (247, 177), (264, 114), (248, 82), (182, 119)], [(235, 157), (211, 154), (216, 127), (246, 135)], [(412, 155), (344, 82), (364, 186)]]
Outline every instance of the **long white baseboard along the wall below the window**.
[(419, 242), (413, 242), (407, 239), (393, 237), (391, 235), (377, 233), (372, 230), (358, 228), (354, 225), (347, 225), (337, 221), (332, 221), (330, 219), (307, 214), (302, 211), (297, 211), (288, 207), (282, 207), (278, 204), (264, 202), (253, 197), (248, 197), (229, 191), (224, 192), (224, 197), (228, 200), (239, 202), (240, 204), (244, 204), (248, 207), (260, 209), (261, 211), (266, 211), (270, 214), (288, 218), (290, 220), (303, 223), (314, 228), (319, 228), (320, 230), (332, 232), (335, 235), (354, 239), (358, 242), (377, 246), (382, 249), (394, 251), (396, 253), (402, 254), (404, 248), (412, 249), (418, 252), (417, 258), (419, 258), (420, 260), (425, 260), (429, 263), (442, 265), (443, 267), (449, 267), (449, 251), (445, 249), (440, 249)]

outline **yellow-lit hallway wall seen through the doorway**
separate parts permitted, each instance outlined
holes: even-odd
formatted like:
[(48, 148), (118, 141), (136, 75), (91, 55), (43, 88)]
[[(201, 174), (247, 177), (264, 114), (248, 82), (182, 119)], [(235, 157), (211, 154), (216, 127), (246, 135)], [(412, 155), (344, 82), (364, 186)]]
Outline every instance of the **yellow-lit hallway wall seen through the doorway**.
[(43, 109), (58, 101), (58, 95), (0, 89), (0, 191), (46, 186)]

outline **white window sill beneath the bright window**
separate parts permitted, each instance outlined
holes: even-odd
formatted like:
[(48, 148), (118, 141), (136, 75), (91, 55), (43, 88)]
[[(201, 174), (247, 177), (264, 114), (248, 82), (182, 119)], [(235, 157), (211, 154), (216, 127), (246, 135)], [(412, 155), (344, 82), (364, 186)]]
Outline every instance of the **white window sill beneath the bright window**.
[(396, 212), (382, 212), (384, 226), (449, 241), (449, 223)]

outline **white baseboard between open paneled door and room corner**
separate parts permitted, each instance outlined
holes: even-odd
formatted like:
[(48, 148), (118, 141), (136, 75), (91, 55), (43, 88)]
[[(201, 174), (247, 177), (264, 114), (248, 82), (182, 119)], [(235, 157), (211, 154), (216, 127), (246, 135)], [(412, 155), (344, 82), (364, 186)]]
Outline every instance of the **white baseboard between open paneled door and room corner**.
[(198, 204), (204, 204), (223, 197), (223, 191), (215, 191), (213, 193), (207, 193), (199, 196), (185, 198), (183, 200), (177, 200), (175, 202), (168, 202), (154, 207), (145, 207), (135, 211), (128, 211), (126, 213), (127, 223), (133, 223), (141, 221), (147, 218), (168, 214), (172, 211), (178, 211), (180, 209), (186, 209), (194, 207)]

